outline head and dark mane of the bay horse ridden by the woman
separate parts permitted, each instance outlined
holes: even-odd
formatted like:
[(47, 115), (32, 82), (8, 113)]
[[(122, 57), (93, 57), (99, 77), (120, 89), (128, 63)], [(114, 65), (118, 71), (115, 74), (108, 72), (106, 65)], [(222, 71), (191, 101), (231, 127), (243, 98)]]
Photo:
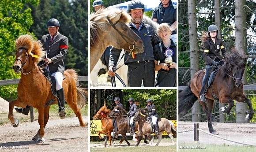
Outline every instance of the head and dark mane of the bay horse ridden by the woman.
[(232, 54), (227, 56), (226, 62), (221, 67), (221, 75), (223, 79), (229, 75), (233, 76), (236, 87), (240, 87), (248, 56), (245, 56), (244, 52), (237, 48), (232, 48), (231, 52)]

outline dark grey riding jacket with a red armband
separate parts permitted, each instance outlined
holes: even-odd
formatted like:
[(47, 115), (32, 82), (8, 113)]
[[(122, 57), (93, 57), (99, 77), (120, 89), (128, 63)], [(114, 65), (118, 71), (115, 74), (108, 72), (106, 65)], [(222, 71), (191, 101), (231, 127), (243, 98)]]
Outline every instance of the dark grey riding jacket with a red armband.
[(47, 58), (52, 59), (53, 62), (48, 64), (50, 72), (64, 73), (65, 66), (63, 59), (68, 52), (68, 37), (58, 33), (51, 42), (50, 34), (43, 35), (41, 38), (43, 48), (47, 53)]

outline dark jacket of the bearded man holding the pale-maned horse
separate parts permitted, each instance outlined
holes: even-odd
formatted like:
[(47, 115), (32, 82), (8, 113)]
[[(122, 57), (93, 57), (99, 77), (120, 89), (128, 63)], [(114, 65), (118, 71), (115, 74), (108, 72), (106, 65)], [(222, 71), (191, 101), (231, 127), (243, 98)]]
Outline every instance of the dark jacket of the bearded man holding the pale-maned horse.
[[(132, 26), (131, 23), (129, 27), (142, 39), (145, 46), (144, 52), (136, 54), (134, 59), (132, 59), (132, 56), (129, 55), (129, 52), (126, 52), (124, 55), (124, 61), (126, 61), (128, 56), (130, 57), (125, 64), (135, 62), (135, 61), (147, 61), (147, 60), (154, 61), (153, 46), (158, 44), (160, 41), (156, 33), (154, 33), (154, 29), (150, 25), (145, 24), (144, 22), (142, 22), (141, 24), (142, 24), (142, 27), (140, 30)], [(120, 50), (117, 48), (113, 48), (110, 51), (109, 66), (117, 65), (119, 56), (120, 56)]]

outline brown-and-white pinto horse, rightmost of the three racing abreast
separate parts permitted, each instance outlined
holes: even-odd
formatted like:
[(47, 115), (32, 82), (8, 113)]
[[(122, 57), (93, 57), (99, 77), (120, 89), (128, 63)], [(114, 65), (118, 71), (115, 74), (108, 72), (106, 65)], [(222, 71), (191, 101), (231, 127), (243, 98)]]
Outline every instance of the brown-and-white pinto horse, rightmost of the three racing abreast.
[[(152, 142), (151, 142), (152, 127), (151, 127), (151, 124), (147, 117), (148, 117), (148, 114), (144, 108), (139, 108), (136, 110), (133, 120), (134, 120), (134, 122), (138, 122), (139, 133), (137, 133), (137, 135), (139, 136), (139, 141), (137, 142), (137, 144), (135, 146), (139, 145), (139, 142), (141, 141), (143, 134), (147, 135), (147, 137), (149, 138), (149, 143), (152, 146)], [(177, 130), (176, 130), (173, 122), (170, 122), (166, 118), (161, 118), (158, 121), (158, 126), (159, 126), (159, 135), (158, 135), (158, 142), (156, 143), (156, 146), (158, 146), (160, 141), (162, 140), (162, 133), (164, 131), (166, 131), (168, 136), (171, 138), (172, 145), (175, 145), (175, 142), (173, 141), (173, 135), (175, 137), (177, 136)], [(172, 135), (172, 133), (173, 133), (173, 135)]]

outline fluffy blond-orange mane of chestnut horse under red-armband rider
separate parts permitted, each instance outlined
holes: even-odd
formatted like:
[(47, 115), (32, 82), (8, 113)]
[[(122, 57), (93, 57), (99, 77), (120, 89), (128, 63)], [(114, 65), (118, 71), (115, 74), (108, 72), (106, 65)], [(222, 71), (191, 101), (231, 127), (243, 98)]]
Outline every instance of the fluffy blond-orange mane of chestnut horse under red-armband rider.
[(19, 48), (26, 48), (28, 50), (29, 55), (38, 56), (38, 58), (33, 58), (35, 63), (38, 63), (45, 56), (45, 52), (43, 51), (43, 45), (40, 40), (35, 40), (32, 35), (25, 34), (19, 36), (15, 40), (15, 45), (17, 46), (16, 50)]

